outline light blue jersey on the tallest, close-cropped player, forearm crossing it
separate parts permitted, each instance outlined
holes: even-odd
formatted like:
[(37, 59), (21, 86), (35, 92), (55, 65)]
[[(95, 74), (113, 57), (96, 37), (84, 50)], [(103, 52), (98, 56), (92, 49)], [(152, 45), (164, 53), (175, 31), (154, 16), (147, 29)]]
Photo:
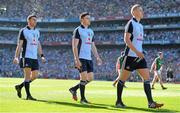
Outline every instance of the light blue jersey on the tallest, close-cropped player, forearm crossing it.
[[(139, 51), (143, 52), (142, 44), (143, 44), (143, 26), (141, 23), (139, 23), (135, 18), (132, 18), (129, 20), (127, 25), (125, 26), (125, 32), (130, 33), (131, 37), (130, 40), (133, 44), (133, 46)], [(132, 56), (132, 57), (138, 57), (134, 51), (132, 51), (127, 45), (125, 48), (125, 55), (126, 56)]]

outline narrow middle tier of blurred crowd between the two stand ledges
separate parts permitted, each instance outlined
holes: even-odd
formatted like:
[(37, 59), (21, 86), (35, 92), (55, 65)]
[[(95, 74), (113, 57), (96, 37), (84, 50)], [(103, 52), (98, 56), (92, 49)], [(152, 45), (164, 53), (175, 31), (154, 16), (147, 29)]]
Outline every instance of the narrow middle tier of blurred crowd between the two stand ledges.
[[(17, 42), (18, 33), (3, 32), (0, 33), (0, 41)], [(72, 33), (41, 33), (40, 41), (42, 43), (68, 42), (72, 39)], [(122, 31), (95, 32), (95, 42), (110, 42), (111, 44), (123, 43)], [(144, 41), (180, 41), (180, 30), (148, 30), (145, 31)]]

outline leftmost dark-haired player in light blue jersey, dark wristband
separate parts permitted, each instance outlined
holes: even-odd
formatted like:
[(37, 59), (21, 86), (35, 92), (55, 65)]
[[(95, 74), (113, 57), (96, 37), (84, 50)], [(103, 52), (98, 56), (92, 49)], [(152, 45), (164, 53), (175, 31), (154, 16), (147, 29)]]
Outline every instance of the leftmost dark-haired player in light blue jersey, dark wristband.
[(21, 84), (16, 85), (15, 89), (17, 91), (18, 97), (21, 98), (21, 89), (24, 86), (27, 95), (26, 99), (36, 100), (31, 96), (30, 83), (38, 76), (39, 63), (37, 54), (39, 53), (43, 63), (45, 63), (46, 60), (39, 42), (39, 30), (35, 28), (37, 24), (36, 15), (29, 15), (27, 17), (27, 22), (28, 25), (22, 28), (19, 32), (16, 53), (13, 60), (14, 64), (19, 64), (20, 68), (23, 69), (24, 81)]

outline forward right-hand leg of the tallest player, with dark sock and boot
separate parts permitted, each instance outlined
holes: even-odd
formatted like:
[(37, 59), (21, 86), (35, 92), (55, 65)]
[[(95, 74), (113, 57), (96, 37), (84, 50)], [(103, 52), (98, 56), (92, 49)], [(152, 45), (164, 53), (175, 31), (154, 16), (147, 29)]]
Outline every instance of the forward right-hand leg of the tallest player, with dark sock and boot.
[(144, 68), (144, 69), (137, 69), (137, 71), (144, 80), (144, 92), (148, 100), (148, 107), (159, 108), (163, 106), (163, 104), (158, 104), (153, 101), (151, 87), (150, 87), (150, 80), (149, 80), (149, 70), (147, 68)]

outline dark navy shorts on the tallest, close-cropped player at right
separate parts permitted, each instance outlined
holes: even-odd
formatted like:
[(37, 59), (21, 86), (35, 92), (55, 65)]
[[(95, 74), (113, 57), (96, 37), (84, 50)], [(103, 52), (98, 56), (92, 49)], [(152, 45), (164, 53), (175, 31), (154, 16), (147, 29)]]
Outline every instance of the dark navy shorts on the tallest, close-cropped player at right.
[(140, 59), (139, 57), (124, 56), (122, 69), (127, 71), (134, 71), (136, 69), (145, 68), (147, 68), (147, 62), (144, 58)]

